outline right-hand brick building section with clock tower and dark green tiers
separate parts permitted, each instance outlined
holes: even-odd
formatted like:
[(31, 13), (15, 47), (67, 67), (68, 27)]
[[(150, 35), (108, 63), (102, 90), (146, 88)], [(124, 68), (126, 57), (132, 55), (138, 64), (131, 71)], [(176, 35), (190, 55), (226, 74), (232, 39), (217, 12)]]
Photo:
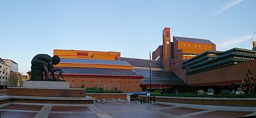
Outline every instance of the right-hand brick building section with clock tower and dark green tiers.
[(255, 72), (254, 50), (216, 51), (216, 45), (208, 39), (173, 36), (169, 43), (169, 37), (170, 29), (164, 28), (163, 44), (153, 52), (153, 59), (162, 62), (166, 71), (177, 74), (190, 88), (220, 90), (241, 84), (247, 69)]

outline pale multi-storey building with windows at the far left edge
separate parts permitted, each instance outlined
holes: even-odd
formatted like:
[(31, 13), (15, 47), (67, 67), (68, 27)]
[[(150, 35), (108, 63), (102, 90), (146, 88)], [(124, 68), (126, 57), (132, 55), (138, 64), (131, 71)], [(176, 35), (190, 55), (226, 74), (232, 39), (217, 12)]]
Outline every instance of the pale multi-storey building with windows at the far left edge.
[(0, 58), (0, 89), (6, 89), (10, 79), (10, 67)]

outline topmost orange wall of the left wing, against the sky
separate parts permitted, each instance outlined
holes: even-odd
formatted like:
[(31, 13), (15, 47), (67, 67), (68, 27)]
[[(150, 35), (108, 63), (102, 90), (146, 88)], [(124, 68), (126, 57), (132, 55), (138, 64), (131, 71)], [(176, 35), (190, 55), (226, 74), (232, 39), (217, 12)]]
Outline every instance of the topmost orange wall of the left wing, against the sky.
[(58, 55), (60, 58), (115, 60), (120, 57), (120, 52), (54, 49), (53, 55)]

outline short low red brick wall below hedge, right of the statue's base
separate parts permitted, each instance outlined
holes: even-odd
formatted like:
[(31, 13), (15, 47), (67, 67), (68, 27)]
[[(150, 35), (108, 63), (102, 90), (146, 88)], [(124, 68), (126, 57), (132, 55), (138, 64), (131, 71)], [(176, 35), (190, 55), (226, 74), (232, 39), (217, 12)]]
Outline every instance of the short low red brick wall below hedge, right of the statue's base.
[(126, 93), (87, 93), (87, 96), (96, 99), (127, 99)]

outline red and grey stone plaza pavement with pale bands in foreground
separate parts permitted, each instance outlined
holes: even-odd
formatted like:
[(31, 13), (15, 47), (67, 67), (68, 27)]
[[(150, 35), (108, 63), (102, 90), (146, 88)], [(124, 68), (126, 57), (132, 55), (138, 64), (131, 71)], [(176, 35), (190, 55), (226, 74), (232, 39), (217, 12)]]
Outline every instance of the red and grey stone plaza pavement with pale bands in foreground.
[(138, 102), (95, 104), (32, 104), (12, 103), (0, 109), (1, 118), (122, 118), (122, 117), (243, 117), (255, 112), (224, 112), (207, 109), (192, 109), (168, 104), (139, 104)]

